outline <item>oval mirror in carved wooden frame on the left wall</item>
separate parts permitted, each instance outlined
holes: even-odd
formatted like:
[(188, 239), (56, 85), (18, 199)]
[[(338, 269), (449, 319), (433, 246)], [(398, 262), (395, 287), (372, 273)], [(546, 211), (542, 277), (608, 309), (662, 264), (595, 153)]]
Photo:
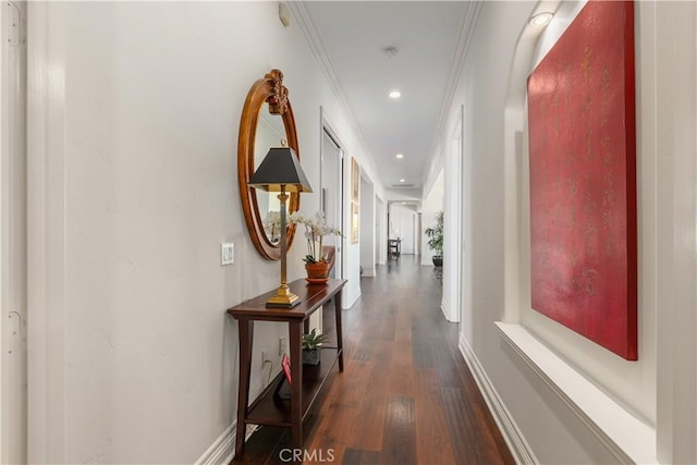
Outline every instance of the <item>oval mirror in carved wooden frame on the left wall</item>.
[[(295, 150), (299, 159), (295, 120), (288, 89), (283, 86), (283, 73), (272, 70), (254, 83), (247, 94), (237, 140), (237, 178), (244, 219), (255, 248), (269, 260), (281, 257), (279, 199), (274, 193), (249, 186), (249, 179), (269, 148), (280, 147), (282, 139), (288, 140), (289, 147)], [(298, 208), (298, 193), (290, 193), (288, 212), (292, 213)], [(286, 228), (285, 235), (290, 249), (295, 235), (294, 224)]]

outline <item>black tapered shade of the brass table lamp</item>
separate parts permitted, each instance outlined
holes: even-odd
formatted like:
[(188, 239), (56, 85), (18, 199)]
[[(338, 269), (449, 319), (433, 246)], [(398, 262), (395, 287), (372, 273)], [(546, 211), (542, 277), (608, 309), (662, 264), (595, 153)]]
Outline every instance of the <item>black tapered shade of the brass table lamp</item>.
[(269, 192), (313, 192), (307, 176), (290, 147), (273, 147), (254, 172), (250, 186)]

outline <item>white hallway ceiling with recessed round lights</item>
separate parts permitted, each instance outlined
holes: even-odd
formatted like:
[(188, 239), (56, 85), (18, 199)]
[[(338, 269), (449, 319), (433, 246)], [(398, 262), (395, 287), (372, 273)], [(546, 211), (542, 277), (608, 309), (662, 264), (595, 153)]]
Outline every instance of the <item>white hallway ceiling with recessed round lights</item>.
[[(474, 4), (304, 1), (294, 7), (315, 36), (387, 189), (421, 197), (460, 75)], [(392, 90), (402, 96), (391, 99)]]

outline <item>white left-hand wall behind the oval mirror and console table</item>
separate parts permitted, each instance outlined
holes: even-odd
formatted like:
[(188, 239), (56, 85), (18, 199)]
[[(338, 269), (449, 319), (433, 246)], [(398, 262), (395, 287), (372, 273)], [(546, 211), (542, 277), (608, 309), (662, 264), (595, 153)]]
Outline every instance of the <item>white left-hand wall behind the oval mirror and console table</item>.
[[(29, 10), (29, 462), (193, 463), (217, 440), (224, 456), (239, 372), (225, 309), (279, 280), (240, 208), (249, 87), (283, 71), (313, 185), (320, 106), (348, 157), (370, 162), (277, 2)], [(304, 211), (318, 207), (303, 196)], [(220, 266), (220, 242), (235, 244), (233, 266)], [(290, 279), (303, 252), (291, 249)], [(346, 256), (352, 301), (358, 259)], [(255, 358), (284, 333), (257, 325)]]

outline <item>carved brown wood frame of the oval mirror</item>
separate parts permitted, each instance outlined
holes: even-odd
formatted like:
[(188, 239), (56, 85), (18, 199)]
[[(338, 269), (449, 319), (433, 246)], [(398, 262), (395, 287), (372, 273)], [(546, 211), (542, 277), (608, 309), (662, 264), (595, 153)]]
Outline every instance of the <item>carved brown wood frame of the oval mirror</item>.
[[(291, 101), (288, 99), (288, 89), (283, 86), (283, 73), (279, 70), (271, 70), (264, 78), (254, 83), (242, 110), (240, 121), (240, 137), (237, 139), (237, 179), (240, 181), (240, 197), (242, 199), (242, 210), (247, 223), (247, 231), (252, 243), (261, 257), (268, 260), (281, 258), (281, 247), (272, 243), (264, 230), (264, 218), (259, 212), (257, 201), (257, 189), (249, 186), (249, 179), (256, 169), (254, 154), (259, 123), (259, 114), (264, 103), (269, 103), (269, 112), (280, 115), (283, 119), (285, 138), (289, 147), (295, 150), (299, 160), (299, 149), (297, 146), (297, 134), (295, 132), (295, 119)], [(280, 143), (280, 140), (279, 140)], [(270, 147), (265, 147), (265, 149)], [(260, 160), (258, 160), (260, 161)], [(298, 193), (290, 193), (288, 212), (297, 211), (301, 200)], [(295, 235), (295, 224), (288, 227), (286, 246), (290, 249)]]

